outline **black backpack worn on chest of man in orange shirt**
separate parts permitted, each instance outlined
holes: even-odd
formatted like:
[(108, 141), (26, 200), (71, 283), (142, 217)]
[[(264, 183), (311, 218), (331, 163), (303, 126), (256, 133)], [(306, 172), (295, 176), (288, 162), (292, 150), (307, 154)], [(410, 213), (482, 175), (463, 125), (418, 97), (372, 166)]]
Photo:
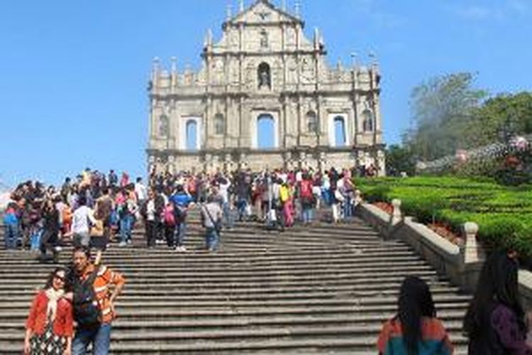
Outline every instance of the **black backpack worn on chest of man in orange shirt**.
[(82, 281), (74, 279), (74, 320), (80, 328), (97, 327), (101, 322), (101, 312), (94, 292), (94, 280), (98, 275), (95, 270)]

